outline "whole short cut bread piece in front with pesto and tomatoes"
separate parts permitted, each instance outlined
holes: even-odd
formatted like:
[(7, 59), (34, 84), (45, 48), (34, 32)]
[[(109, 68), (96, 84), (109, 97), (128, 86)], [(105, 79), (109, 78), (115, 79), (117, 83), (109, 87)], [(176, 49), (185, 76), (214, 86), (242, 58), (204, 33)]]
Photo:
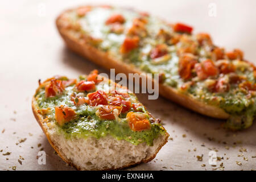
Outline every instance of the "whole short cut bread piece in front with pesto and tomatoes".
[(32, 110), (46, 137), (80, 170), (121, 169), (154, 159), (169, 134), (127, 88), (98, 76), (39, 82)]

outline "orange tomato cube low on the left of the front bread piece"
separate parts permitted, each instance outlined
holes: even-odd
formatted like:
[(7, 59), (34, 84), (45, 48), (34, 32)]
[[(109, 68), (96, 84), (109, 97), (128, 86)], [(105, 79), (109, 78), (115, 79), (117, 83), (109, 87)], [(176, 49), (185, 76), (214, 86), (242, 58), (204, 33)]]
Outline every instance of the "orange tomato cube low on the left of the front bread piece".
[(75, 115), (75, 110), (70, 107), (64, 107), (63, 105), (55, 107), (55, 119), (60, 126), (71, 121)]

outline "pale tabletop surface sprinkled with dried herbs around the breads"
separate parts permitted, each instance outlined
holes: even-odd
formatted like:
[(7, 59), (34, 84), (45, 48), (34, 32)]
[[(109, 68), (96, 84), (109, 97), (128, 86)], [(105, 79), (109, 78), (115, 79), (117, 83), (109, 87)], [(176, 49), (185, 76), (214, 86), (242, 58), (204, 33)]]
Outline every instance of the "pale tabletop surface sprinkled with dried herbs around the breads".
[[(45, 16), (39, 16), (40, 3), (46, 6)], [(209, 32), (218, 46), (228, 50), (241, 48), (245, 58), (256, 63), (256, 1), (253, 0), (1, 1), (0, 150), (3, 151), (0, 152), (0, 170), (12, 166), (16, 166), (16, 170), (73, 170), (54, 154), (32, 114), (31, 99), (39, 78), (77, 77), (95, 68), (109, 73), (68, 51), (55, 27), (55, 18), (61, 11), (88, 3), (129, 6), (169, 22), (188, 23), (194, 27), (194, 32)], [(216, 4), (216, 17), (208, 15), (209, 3)], [(212, 170), (221, 163), (225, 170), (256, 169), (256, 158), (252, 158), (256, 155), (256, 123), (250, 129), (233, 133), (220, 129), (222, 121), (193, 113), (162, 97), (148, 101), (147, 94), (138, 94), (138, 98), (156, 118), (162, 119), (172, 139), (152, 162), (129, 170)], [(23, 138), (25, 142), (16, 144)], [(42, 147), (47, 154), (46, 165), (39, 165), (36, 159)], [(247, 152), (240, 152), (241, 147)], [(213, 148), (217, 156), (224, 157), (216, 167), (208, 164), (208, 153)], [(11, 155), (2, 155), (6, 152)], [(203, 161), (197, 161), (196, 156), (202, 154)], [(241, 154), (248, 161), (238, 156)], [(24, 158), (22, 165), (18, 163), (19, 155)], [(242, 166), (236, 162), (241, 162)]]

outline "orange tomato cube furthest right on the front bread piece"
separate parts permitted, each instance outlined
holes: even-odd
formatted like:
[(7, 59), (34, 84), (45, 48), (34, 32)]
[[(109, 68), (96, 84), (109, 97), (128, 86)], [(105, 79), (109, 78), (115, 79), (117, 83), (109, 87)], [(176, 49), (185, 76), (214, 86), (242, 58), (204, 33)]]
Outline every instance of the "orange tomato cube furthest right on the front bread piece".
[(129, 112), (126, 115), (130, 129), (133, 131), (148, 130), (151, 127), (146, 114)]

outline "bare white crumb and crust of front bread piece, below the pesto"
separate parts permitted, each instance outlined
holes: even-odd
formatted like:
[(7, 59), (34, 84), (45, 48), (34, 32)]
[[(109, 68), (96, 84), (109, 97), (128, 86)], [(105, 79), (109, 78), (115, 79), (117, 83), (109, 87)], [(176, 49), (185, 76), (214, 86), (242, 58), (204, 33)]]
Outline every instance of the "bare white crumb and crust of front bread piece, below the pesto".
[[(86, 78), (86, 76), (83, 77)], [(51, 117), (50, 113), (54, 112), (51, 108), (52, 106), (49, 106), (47, 109), (42, 109), (38, 104), (38, 99), (41, 98), (38, 94), (40, 92), (44, 94), (46, 85), (49, 85), (49, 82), (54, 79), (55, 78), (48, 79), (39, 85), (39, 88), (32, 98), (32, 111), (51, 146), (57, 154), (71, 166), (79, 170), (112, 170), (126, 168), (134, 164), (150, 162), (155, 158), (160, 148), (166, 144), (169, 134), (150, 113), (147, 114), (158, 123), (161, 131), (164, 131), (164, 133), (154, 138), (152, 145), (148, 145), (146, 142), (135, 145), (125, 139), (117, 139), (110, 134), (100, 138), (94, 136), (84, 138), (76, 137), (76, 135), (75, 137), (67, 137), (67, 135), (60, 132), (59, 122), (56, 122), (56, 113), (55, 119)], [(119, 88), (119, 85), (115, 86)], [(140, 102), (138, 103), (141, 104)], [(140, 131), (137, 132), (139, 133)]]

